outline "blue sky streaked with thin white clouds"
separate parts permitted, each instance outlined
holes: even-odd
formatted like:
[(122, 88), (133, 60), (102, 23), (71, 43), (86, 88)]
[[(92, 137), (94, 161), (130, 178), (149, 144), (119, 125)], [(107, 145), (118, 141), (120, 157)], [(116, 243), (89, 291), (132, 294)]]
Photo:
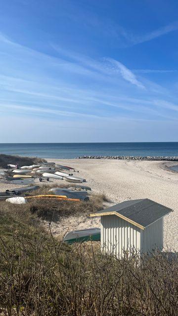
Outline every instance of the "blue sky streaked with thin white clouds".
[(1, 0), (0, 143), (178, 141), (177, 12)]

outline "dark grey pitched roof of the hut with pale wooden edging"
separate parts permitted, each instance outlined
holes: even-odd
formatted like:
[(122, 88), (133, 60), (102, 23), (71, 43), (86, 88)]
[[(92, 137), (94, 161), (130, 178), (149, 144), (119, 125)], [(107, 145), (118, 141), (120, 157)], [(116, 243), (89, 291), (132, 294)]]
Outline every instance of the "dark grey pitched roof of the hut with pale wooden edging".
[(90, 216), (117, 215), (131, 224), (144, 229), (173, 210), (148, 198), (118, 203)]

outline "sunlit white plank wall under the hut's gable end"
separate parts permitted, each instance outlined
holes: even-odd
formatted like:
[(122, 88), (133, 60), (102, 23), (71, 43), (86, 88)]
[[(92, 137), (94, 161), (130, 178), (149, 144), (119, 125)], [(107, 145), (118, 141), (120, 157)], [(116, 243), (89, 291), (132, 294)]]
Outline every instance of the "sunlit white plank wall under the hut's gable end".
[(116, 215), (101, 216), (101, 249), (122, 257), (124, 251), (140, 250), (140, 229)]

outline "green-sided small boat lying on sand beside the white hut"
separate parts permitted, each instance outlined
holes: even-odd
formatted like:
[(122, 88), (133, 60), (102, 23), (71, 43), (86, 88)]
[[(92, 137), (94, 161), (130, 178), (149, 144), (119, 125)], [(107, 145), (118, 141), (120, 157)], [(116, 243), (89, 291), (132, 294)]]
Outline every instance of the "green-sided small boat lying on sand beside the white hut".
[(84, 242), (88, 240), (97, 241), (101, 238), (101, 230), (100, 228), (89, 228), (80, 231), (72, 231), (67, 233), (63, 241), (69, 244), (74, 242)]

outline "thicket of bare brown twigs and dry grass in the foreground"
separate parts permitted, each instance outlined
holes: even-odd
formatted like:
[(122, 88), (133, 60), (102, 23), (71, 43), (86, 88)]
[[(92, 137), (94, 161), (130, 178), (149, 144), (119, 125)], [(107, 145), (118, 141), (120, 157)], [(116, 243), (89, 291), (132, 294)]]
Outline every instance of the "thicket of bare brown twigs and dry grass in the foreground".
[[(175, 255), (176, 256), (176, 255)], [(52, 236), (0, 240), (0, 315), (177, 316), (178, 258), (118, 260)]]

